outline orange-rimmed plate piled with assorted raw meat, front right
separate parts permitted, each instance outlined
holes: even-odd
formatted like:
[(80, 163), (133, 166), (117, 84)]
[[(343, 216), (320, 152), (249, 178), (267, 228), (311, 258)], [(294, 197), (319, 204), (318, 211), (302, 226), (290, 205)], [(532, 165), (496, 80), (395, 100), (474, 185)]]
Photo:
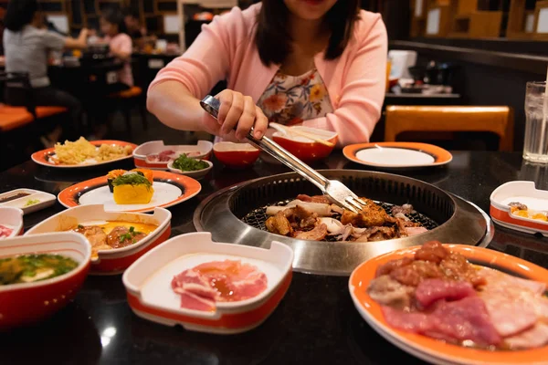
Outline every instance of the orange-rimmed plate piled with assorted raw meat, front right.
[(422, 360), (546, 364), (547, 284), (548, 270), (520, 258), (430, 242), (358, 266), (349, 290), (375, 331)]

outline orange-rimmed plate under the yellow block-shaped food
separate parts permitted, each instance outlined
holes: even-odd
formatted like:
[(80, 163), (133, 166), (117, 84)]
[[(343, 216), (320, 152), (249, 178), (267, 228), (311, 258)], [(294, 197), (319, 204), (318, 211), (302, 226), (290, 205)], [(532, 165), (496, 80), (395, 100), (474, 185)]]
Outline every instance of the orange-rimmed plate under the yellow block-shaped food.
[(202, 190), (195, 179), (173, 172), (153, 171), (153, 199), (147, 204), (114, 202), (106, 176), (77, 183), (58, 194), (59, 203), (67, 208), (78, 205), (104, 204), (107, 212), (152, 212), (155, 207), (167, 208), (183, 203)]

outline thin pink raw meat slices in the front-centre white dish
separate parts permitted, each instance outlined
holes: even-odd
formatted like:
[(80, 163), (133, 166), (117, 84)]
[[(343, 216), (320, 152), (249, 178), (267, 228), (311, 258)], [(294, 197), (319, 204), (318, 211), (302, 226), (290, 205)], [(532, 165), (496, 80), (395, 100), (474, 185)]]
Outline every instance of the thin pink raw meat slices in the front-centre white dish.
[(216, 302), (257, 297), (267, 288), (267, 276), (239, 260), (212, 261), (174, 276), (171, 286), (181, 296), (181, 308), (213, 311)]

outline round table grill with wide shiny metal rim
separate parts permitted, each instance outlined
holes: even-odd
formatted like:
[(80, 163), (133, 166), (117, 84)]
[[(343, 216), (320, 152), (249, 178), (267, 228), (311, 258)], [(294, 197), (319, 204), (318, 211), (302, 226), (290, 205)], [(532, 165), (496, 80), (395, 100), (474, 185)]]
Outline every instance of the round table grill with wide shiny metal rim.
[(387, 213), (392, 206), (410, 203), (416, 210), (409, 218), (428, 231), (377, 242), (307, 241), (266, 231), (266, 208), (289, 203), (299, 194), (318, 195), (319, 190), (296, 172), (240, 183), (210, 195), (195, 211), (198, 231), (210, 232), (216, 242), (268, 248), (272, 241), (289, 245), (297, 271), (348, 275), (365, 260), (395, 249), (443, 243), (486, 246), (494, 234), (490, 218), (477, 206), (434, 185), (406, 176), (355, 170), (319, 171), (339, 180), (358, 196), (380, 202)]

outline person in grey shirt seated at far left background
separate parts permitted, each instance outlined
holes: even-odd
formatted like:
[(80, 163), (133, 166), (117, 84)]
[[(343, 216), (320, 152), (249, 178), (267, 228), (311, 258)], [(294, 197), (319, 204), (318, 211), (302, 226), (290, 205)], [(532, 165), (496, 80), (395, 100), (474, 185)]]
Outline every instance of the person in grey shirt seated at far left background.
[[(65, 126), (67, 138), (75, 138), (73, 129), (81, 122), (82, 105), (79, 99), (65, 91), (51, 87), (47, 78), (47, 57), (50, 51), (65, 48), (87, 47), (88, 30), (82, 29), (78, 38), (60, 36), (40, 29), (44, 17), (38, 12), (37, 0), (11, 0), (5, 12), (4, 51), (5, 71), (27, 73), (30, 78), (33, 98), (37, 106), (60, 106), (68, 108), (71, 119)], [(8, 104), (26, 105), (26, 94), (16, 88), (5, 92)], [(59, 141), (62, 128), (41, 138), (47, 146)]]

